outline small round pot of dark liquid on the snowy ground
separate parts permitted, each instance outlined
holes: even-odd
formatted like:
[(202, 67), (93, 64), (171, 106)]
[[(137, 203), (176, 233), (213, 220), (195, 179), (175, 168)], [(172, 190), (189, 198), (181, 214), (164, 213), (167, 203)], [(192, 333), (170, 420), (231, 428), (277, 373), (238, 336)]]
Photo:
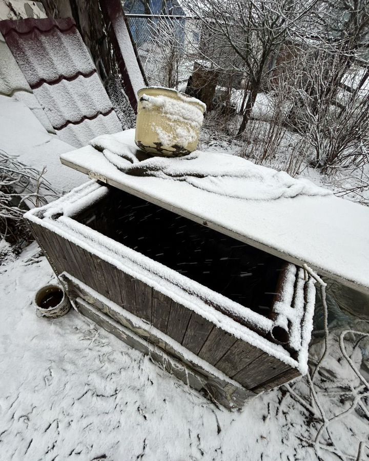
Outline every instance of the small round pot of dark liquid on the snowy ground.
[(33, 301), (38, 317), (56, 319), (64, 316), (70, 309), (70, 302), (63, 289), (58, 285), (46, 285), (40, 288)]

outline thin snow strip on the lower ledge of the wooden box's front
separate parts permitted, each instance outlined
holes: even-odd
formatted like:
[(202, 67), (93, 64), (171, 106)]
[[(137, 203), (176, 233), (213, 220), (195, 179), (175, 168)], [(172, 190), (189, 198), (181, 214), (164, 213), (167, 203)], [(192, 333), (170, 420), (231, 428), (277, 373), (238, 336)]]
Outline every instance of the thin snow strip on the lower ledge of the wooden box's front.
[[(178, 343), (177, 341), (172, 339), (167, 334), (165, 334), (162, 331), (155, 328), (152, 324), (146, 322), (145, 320), (140, 319), (139, 317), (135, 316), (133, 313), (129, 312), (128, 310), (124, 309), (123, 307), (119, 306), (118, 304), (115, 304), (113, 301), (111, 301), (110, 299), (108, 299), (105, 296), (101, 295), (99, 292), (95, 291), (93, 288), (89, 287), (88, 285), (81, 282), (80, 280), (76, 279), (71, 274), (68, 274), (67, 272), (63, 272), (62, 274), (60, 274), (60, 277), (67, 278), (67, 279), (71, 280), (75, 285), (77, 285), (77, 286), (79, 285), (83, 290), (85, 290), (89, 295), (91, 295), (97, 301), (100, 301), (101, 303), (106, 304), (113, 312), (116, 312), (117, 314), (126, 317), (135, 327), (138, 327), (138, 328), (140, 328), (142, 330), (148, 331), (153, 336), (160, 339), (162, 342), (167, 343), (174, 350), (176, 350), (179, 354), (181, 354), (182, 357), (185, 358), (188, 362), (192, 362), (195, 365), (198, 365), (199, 367), (203, 368), (204, 370), (209, 371), (211, 374), (217, 376), (217, 378), (219, 378), (220, 380), (222, 380), (222, 381), (224, 381), (226, 383), (231, 383), (235, 387), (243, 388), (239, 383), (232, 380), (232, 378), (230, 378), (229, 376), (224, 374), (222, 371), (215, 368), (209, 362), (207, 362), (207, 361), (201, 359), (200, 357), (198, 357), (198, 355), (194, 354), (193, 352), (188, 350), (186, 347), (182, 346), (180, 343)], [(81, 299), (81, 300), (82, 300), (82, 302), (86, 303), (85, 300), (83, 300), (83, 299)], [(90, 307), (90, 305), (89, 305), (89, 307)], [(78, 310), (78, 309), (76, 308), (76, 310)], [(122, 328), (122, 325), (120, 323), (116, 322), (114, 319), (112, 319), (110, 317), (109, 317), (109, 322), (111, 324), (113, 324), (113, 325), (118, 325), (119, 328)], [(130, 334), (135, 334), (135, 333), (130, 331)], [(140, 341), (144, 341), (139, 336), (137, 336), (137, 338), (139, 338)], [(145, 341), (145, 344), (150, 345), (150, 343), (148, 341)], [(152, 347), (155, 348), (155, 346), (152, 346)]]

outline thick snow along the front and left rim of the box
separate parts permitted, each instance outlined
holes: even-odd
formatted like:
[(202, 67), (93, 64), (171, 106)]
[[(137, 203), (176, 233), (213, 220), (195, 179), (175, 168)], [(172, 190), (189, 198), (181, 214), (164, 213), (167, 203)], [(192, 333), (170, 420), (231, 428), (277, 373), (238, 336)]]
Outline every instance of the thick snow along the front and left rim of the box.
[[(101, 192), (99, 189), (101, 189)], [(163, 295), (169, 296), (175, 302), (185, 305), (201, 317), (214, 323), (215, 326), (228, 331), (236, 338), (252, 344), (288, 365), (297, 367), (301, 373), (306, 372), (306, 363), (297, 362), (291, 358), (289, 352), (283, 349), (282, 346), (271, 343), (215, 308), (209, 307), (209, 302), (221, 305), (225, 310), (243, 317), (252, 325), (261, 328), (265, 332), (270, 331), (274, 325), (271, 319), (258, 315), (252, 310), (190, 280), (186, 276), (178, 274), (175, 270), (157, 261), (153, 261), (145, 255), (115, 242), (66, 216), (79, 211), (82, 207), (81, 203), (83, 203), (83, 206), (94, 203), (99, 194), (102, 196), (106, 191), (106, 187), (99, 186), (95, 181), (89, 181), (75, 188), (70, 194), (61, 197), (57, 202), (28, 212), (25, 217), (70, 240), (72, 243), (95, 254), (99, 258), (106, 260), (131, 277), (137, 278), (155, 288)], [(60, 216), (56, 221), (51, 219), (52, 216), (60, 213), (63, 214), (64, 211), (66, 215)], [(44, 217), (44, 219), (40, 219), (40, 217)], [(306, 338), (310, 338), (308, 330), (304, 334)], [(307, 350), (305, 352), (302, 357), (307, 357)]]

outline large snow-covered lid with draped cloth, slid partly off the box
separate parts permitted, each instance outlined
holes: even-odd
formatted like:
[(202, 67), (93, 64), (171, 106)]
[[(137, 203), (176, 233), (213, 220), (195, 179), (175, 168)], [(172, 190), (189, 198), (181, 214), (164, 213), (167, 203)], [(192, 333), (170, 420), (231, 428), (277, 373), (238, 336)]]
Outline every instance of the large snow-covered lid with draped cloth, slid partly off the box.
[[(117, 140), (126, 146), (120, 155), (114, 154)], [(227, 154), (203, 152), (195, 159), (196, 174), (201, 161), (209, 166), (210, 176), (204, 181), (196, 174), (176, 180), (178, 172), (183, 175), (189, 168), (186, 157), (185, 163), (175, 163), (180, 171), (158, 165), (154, 158), (142, 172), (134, 130), (109, 136), (108, 141), (109, 149), (95, 140), (97, 149), (89, 145), (62, 154), (61, 162), (285, 261), (306, 263), (320, 275), (369, 292), (369, 208)], [(219, 162), (228, 164), (220, 179)], [(239, 177), (229, 176), (240, 167)], [(146, 174), (150, 169), (156, 174)]]

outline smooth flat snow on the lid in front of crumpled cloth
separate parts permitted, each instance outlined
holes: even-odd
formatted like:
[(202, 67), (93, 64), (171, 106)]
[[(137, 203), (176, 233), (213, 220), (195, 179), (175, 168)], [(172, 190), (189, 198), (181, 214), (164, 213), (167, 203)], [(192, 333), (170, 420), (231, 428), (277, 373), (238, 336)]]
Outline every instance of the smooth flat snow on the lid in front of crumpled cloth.
[[(136, 149), (134, 130), (120, 140)], [(212, 164), (212, 153), (205, 153)], [(232, 157), (231, 157), (232, 158)], [(333, 195), (234, 198), (186, 181), (125, 174), (91, 145), (61, 162), (286, 261), (307, 263), (359, 291), (369, 291), (369, 209)], [(236, 160), (235, 160), (236, 161)], [(237, 159), (238, 161), (238, 159)], [(244, 179), (247, 184), (248, 179)]]

